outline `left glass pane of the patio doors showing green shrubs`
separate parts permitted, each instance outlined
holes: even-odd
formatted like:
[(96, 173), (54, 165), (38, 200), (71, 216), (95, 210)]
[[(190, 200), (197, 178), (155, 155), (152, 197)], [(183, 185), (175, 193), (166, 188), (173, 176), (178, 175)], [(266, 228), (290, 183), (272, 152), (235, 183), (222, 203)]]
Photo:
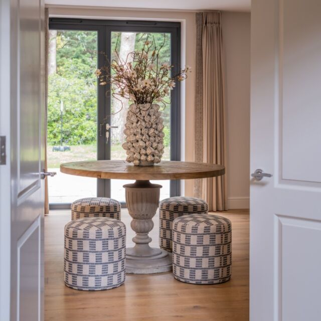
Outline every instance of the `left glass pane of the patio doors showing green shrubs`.
[(48, 180), (51, 208), (69, 207), (79, 198), (97, 195), (96, 180), (60, 173), (60, 164), (97, 159), (98, 32), (49, 31)]

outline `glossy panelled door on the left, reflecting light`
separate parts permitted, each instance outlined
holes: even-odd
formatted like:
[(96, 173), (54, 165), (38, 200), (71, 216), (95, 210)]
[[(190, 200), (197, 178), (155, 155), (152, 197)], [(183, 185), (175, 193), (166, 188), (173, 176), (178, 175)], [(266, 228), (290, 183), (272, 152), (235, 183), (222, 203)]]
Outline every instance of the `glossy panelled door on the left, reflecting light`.
[(43, 16), (43, 0), (11, 0), (12, 321), (43, 320)]

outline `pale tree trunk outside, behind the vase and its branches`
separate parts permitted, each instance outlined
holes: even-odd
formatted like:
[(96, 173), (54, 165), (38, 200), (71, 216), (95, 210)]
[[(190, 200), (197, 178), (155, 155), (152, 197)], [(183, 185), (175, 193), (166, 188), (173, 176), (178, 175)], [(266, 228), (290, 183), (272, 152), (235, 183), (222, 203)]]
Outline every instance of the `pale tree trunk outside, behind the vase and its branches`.
[[(135, 40), (136, 40), (136, 33), (133, 32), (122, 32), (120, 37), (120, 49), (119, 49), (119, 58), (121, 63), (126, 61), (127, 55), (135, 50)], [(127, 62), (131, 62), (132, 58), (128, 57)], [(118, 128), (110, 129), (111, 133), (111, 143), (123, 143), (125, 141), (125, 134), (123, 133), (125, 129), (125, 122), (126, 122), (126, 114), (128, 110), (128, 100), (125, 98), (117, 97), (122, 102), (122, 109), (121, 109), (121, 102), (113, 97), (111, 97), (113, 111), (117, 112), (115, 115), (112, 115), (111, 122), (113, 126), (118, 126)]]

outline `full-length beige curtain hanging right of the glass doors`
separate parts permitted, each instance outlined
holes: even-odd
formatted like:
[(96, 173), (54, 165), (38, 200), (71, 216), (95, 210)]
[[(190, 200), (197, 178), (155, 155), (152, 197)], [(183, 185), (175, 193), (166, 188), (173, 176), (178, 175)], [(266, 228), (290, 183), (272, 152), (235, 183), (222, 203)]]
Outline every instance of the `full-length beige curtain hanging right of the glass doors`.
[[(221, 13), (197, 13), (196, 30), (195, 161), (226, 165)], [(226, 181), (226, 175), (196, 180), (194, 196), (210, 211), (225, 211)]]

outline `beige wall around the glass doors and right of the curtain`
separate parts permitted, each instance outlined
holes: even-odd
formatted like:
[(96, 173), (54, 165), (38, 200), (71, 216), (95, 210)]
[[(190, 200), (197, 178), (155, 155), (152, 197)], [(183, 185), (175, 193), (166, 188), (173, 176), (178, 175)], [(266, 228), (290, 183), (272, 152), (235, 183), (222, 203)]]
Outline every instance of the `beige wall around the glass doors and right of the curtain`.
[[(50, 7), (49, 13), (51, 17), (179, 21), (182, 23), (182, 65), (190, 65), (195, 70), (194, 12)], [(231, 208), (248, 208), (250, 15), (224, 13), (223, 28), (227, 65), (227, 138), (229, 147), (233, 148), (228, 155), (228, 193)], [(185, 139), (182, 155), (185, 161), (193, 161), (194, 158), (194, 82), (192, 72), (182, 86), (182, 137)], [(184, 188), (185, 195), (191, 196), (193, 181), (185, 181)]]

